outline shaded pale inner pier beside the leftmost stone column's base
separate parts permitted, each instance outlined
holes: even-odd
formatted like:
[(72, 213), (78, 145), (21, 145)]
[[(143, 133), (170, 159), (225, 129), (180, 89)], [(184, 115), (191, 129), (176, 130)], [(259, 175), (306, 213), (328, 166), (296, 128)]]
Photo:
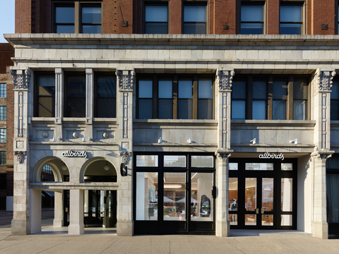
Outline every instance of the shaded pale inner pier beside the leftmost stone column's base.
[(41, 232), (41, 190), (30, 189), (30, 234)]

